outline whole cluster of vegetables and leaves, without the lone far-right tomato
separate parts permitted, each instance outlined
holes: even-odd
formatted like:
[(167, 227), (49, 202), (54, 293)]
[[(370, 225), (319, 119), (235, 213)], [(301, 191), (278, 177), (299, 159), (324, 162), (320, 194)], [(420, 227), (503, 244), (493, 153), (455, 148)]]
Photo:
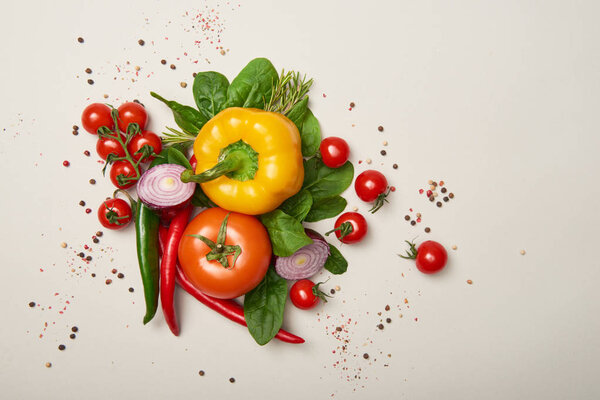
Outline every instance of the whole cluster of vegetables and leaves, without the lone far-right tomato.
[[(321, 140), (308, 108), (311, 85), (297, 72), (278, 74), (265, 58), (250, 61), (231, 83), (218, 72), (200, 72), (192, 87), (196, 107), (150, 93), (171, 109), (177, 125), (167, 127), (163, 138), (144, 130), (148, 116), (140, 104), (114, 109), (94, 103), (84, 110), (83, 126), (100, 136), (98, 154), (106, 167), (112, 165), (115, 186), (137, 184), (137, 201), (130, 197), (128, 206), (107, 200), (98, 217), (111, 229), (135, 220), (144, 323), (154, 317), (160, 298), (167, 325), (179, 334), (177, 282), (201, 303), (246, 325), (260, 345), (274, 337), (304, 342), (281, 330), (287, 280), (297, 280), (292, 303), (309, 309), (326, 301), (321, 283), (309, 278), (323, 268), (342, 274), (348, 262), (303, 223), (340, 215), (347, 206), (341, 195), (354, 179), (346, 141)], [(374, 202), (375, 212), (389, 188), (382, 174), (366, 172), (355, 188), (361, 199)], [(194, 207), (203, 210), (189, 221)], [(347, 212), (326, 235), (333, 232), (342, 243), (357, 243), (367, 234), (367, 222)], [(243, 306), (233, 300), (242, 295)]]

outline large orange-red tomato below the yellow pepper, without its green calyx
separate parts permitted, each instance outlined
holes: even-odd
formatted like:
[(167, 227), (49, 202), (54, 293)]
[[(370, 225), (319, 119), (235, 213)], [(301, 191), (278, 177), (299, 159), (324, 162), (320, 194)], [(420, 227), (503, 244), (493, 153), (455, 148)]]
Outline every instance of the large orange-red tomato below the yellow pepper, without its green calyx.
[[(225, 268), (216, 260), (207, 260), (210, 248), (190, 235), (202, 235), (216, 243), (228, 213), (225, 245), (238, 245), (241, 253), (235, 264), (228, 255), (229, 268)], [(254, 289), (264, 278), (271, 261), (271, 242), (256, 217), (214, 207), (202, 211), (185, 228), (178, 256), (183, 272), (196, 288), (213, 297), (232, 299)]]

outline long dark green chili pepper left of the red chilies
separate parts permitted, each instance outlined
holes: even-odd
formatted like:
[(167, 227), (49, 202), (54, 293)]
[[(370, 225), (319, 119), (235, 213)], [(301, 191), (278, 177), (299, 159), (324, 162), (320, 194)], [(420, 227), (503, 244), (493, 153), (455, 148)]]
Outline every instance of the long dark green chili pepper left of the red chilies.
[(140, 264), (140, 274), (144, 284), (144, 298), (146, 299), (146, 315), (144, 325), (156, 314), (158, 307), (158, 281), (160, 270), (158, 264), (158, 226), (160, 218), (152, 210), (138, 201), (135, 233)]

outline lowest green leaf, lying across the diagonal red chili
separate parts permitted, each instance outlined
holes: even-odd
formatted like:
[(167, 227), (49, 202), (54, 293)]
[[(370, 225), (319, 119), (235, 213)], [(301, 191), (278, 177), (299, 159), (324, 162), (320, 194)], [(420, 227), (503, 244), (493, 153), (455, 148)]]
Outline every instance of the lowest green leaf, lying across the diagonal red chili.
[(244, 297), (244, 318), (248, 331), (263, 346), (275, 337), (283, 324), (283, 310), (287, 299), (287, 281), (273, 268), (264, 279)]

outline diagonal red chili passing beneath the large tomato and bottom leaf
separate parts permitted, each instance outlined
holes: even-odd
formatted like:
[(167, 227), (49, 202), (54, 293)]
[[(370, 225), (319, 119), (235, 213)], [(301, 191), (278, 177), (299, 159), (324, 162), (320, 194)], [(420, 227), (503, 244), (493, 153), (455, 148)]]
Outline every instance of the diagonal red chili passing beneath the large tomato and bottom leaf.
[[(181, 266), (177, 264), (177, 283), (179, 286), (185, 289), (186, 292), (191, 294), (198, 300), (200, 303), (204, 304), (208, 308), (212, 308), (214, 311), (223, 315), (226, 318), (229, 318), (233, 322), (237, 322), (240, 325), (246, 325), (246, 320), (244, 319), (244, 308), (234, 300), (224, 300), (217, 299), (211, 296), (208, 296), (198, 289), (188, 280), (188, 278), (184, 275), (181, 270)], [(304, 339), (293, 335), (283, 329), (280, 329), (277, 332), (275, 337), (282, 342), (287, 343), (304, 343)]]

